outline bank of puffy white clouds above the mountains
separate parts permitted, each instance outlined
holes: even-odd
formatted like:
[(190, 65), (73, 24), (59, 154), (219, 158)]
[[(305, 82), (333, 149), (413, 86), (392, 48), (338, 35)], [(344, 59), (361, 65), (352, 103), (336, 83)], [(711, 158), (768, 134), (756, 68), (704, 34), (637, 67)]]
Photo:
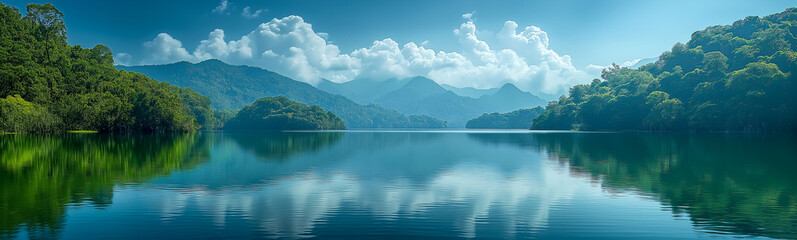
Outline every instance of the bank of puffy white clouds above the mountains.
[[(226, 8), (225, 2), (219, 7)], [(464, 14), (464, 23), (453, 30), (461, 44), (459, 51), (435, 51), (425, 43), (402, 45), (386, 38), (342, 53), (327, 41), (326, 33), (315, 32), (302, 17), (291, 15), (274, 18), (233, 39), (228, 39), (224, 30), (216, 29), (192, 52), (179, 40), (161, 33), (144, 43), (147, 56), (140, 64), (214, 58), (263, 67), (311, 84), (322, 78), (345, 82), (425, 76), (457, 87), (491, 88), (513, 83), (544, 96), (564, 94), (570, 86), (589, 82), (600, 73), (590, 68), (576, 69), (570, 56), (559, 55), (550, 48), (548, 34), (539, 27), (521, 28), (514, 21), (506, 21), (498, 33), (486, 33), (478, 31), (472, 16), (473, 13)]]

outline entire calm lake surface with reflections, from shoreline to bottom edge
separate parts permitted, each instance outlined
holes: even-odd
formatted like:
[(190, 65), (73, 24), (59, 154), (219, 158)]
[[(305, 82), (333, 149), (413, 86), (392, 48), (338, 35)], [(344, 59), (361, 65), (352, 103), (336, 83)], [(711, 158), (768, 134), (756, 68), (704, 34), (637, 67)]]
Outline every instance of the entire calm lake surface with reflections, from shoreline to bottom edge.
[(797, 138), (0, 135), (0, 238), (797, 239)]

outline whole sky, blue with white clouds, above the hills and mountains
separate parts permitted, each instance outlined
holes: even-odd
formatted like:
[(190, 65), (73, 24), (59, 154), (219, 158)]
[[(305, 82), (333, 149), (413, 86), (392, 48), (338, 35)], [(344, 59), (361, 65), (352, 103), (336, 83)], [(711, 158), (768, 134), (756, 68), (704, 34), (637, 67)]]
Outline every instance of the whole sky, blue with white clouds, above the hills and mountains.
[[(731, 24), (745, 16), (764, 16), (797, 6), (794, 1), (786, 0), (50, 2), (66, 15), (70, 44), (87, 47), (104, 44), (114, 53), (123, 53), (118, 62), (130, 65), (221, 58), (230, 63), (272, 69), (310, 83), (320, 78), (347, 81), (424, 75), (459, 86), (492, 87), (513, 82), (526, 90), (548, 94), (589, 81), (596, 66), (655, 57), (676, 42), (688, 41), (692, 32), (707, 26)], [(5, 4), (24, 12), (27, 3)], [(244, 14), (244, 9), (248, 9), (248, 14)], [(472, 15), (463, 16), (467, 13)], [(298, 19), (288, 19), (291, 15)], [(278, 38), (282, 39), (279, 41), (304, 41), (306, 37), (320, 36), (322, 42), (273, 43), (275, 39), (251, 35), (261, 23), (282, 26), (280, 31), (283, 31), (285, 27), (296, 27), (297, 21), (300, 25), (307, 24), (312, 33), (298, 40)], [(507, 21), (513, 24), (506, 25)], [(499, 33), (507, 27), (516, 29), (515, 38), (521, 39), (502, 40)], [(229, 52), (222, 53), (212, 46), (197, 52), (201, 41), (212, 40), (209, 34), (216, 29), (223, 31), (224, 51)], [(307, 33), (307, 29), (297, 29), (290, 34)], [(474, 34), (469, 38), (467, 31), (471, 30)], [(235, 55), (241, 49), (234, 50), (230, 45), (238, 42), (236, 46), (240, 47), (240, 40), (247, 35), (257, 38), (252, 42), (260, 41), (251, 43), (256, 52), (255, 57), (248, 59)], [(387, 39), (390, 41), (385, 42)], [(375, 41), (380, 42), (375, 44)], [(177, 42), (179, 48), (173, 48)], [(421, 47), (420, 53), (432, 50), (444, 54), (420, 61), (406, 55), (418, 53), (416, 48), (407, 49), (407, 43)], [(489, 50), (479, 50), (481, 45)], [(265, 53), (280, 47), (285, 49)], [(291, 47), (301, 50), (301, 56), (296, 57)], [(375, 55), (379, 52), (376, 50), (391, 47), (404, 56), (390, 60), (387, 55)], [(358, 49), (363, 51), (357, 53)], [(315, 50), (323, 53), (313, 55), (311, 52)], [(389, 50), (381, 52), (390, 54)], [(511, 59), (515, 58), (524, 60), (523, 68), (514, 67), (518, 62)], [(306, 66), (299, 61), (305, 61)], [(377, 64), (380, 61), (385, 63)], [(453, 68), (455, 65), (460, 68)], [(444, 67), (449, 70), (440, 70)], [(482, 70), (458, 75), (463, 72), (461, 68)]]

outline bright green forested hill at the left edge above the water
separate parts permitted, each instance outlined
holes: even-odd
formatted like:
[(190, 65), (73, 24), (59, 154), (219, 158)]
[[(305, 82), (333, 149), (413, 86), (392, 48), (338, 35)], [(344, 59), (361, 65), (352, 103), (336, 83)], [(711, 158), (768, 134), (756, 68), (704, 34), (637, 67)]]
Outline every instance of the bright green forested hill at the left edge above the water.
[(210, 100), (119, 71), (108, 47), (67, 44), (52, 4), (26, 16), (0, 4), (0, 132), (193, 131), (214, 126)]

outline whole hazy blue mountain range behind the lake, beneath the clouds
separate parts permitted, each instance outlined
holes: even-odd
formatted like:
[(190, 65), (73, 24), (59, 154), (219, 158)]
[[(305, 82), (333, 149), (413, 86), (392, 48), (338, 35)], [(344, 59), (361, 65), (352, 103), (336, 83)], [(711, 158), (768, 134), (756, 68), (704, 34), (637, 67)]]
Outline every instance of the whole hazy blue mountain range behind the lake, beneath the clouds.
[(484, 113), (545, 104), (512, 84), (493, 89), (456, 88), (412, 77), (345, 83), (323, 80), (314, 87), (265, 69), (219, 60), (117, 67), (191, 88), (210, 98), (214, 109), (237, 110), (262, 97), (285, 96), (333, 112), (350, 128), (461, 128)]

